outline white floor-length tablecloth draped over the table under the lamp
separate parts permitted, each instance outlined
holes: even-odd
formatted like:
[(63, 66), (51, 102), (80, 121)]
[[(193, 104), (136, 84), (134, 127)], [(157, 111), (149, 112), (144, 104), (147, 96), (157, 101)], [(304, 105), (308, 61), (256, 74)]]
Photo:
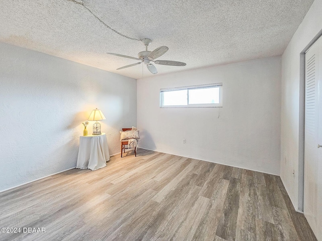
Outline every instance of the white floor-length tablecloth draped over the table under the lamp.
[(79, 137), (79, 150), (76, 168), (97, 170), (105, 167), (110, 160), (106, 135)]

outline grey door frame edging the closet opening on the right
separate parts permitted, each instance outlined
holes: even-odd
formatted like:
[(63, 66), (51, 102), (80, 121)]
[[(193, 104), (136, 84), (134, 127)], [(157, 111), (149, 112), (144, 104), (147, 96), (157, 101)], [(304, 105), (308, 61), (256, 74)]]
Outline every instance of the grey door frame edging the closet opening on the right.
[(304, 201), (304, 125), (305, 125), (305, 52), (322, 36), (322, 29), (300, 53), (299, 123), (298, 123), (298, 193), (297, 211), (303, 212)]

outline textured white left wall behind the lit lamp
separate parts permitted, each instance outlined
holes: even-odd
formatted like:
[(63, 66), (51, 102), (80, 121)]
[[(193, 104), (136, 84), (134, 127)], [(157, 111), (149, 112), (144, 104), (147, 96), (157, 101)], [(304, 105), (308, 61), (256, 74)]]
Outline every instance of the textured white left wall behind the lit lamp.
[(96, 107), (110, 155), (121, 128), (136, 125), (135, 79), (4, 43), (0, 88), (0, 191), (75, 167)]

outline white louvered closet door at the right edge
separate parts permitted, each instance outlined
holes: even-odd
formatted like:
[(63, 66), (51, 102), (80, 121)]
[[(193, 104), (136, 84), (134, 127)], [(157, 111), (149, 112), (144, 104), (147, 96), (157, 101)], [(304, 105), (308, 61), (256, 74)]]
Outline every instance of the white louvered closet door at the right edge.
[(322, 240), (322, 38), (305, 54), (304, 215)]

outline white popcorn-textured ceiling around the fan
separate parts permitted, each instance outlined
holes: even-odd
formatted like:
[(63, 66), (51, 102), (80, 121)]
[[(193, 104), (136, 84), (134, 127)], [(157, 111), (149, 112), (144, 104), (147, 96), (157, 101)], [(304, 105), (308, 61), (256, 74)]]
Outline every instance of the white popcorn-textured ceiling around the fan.
[[(79, 0), (81, 1), (81, 0)], [(142, 65), (116, 70), (145, 50), (107, 29), (83, 6), (67, 0), (1, 0), (0, 41), (132, 78)], [(158, 74), (281, 55), (313, 0), (85, 0), (107, 25), (132, 38), (166, 45)], [(143, 77), (152, 74), (143, 66)]]

